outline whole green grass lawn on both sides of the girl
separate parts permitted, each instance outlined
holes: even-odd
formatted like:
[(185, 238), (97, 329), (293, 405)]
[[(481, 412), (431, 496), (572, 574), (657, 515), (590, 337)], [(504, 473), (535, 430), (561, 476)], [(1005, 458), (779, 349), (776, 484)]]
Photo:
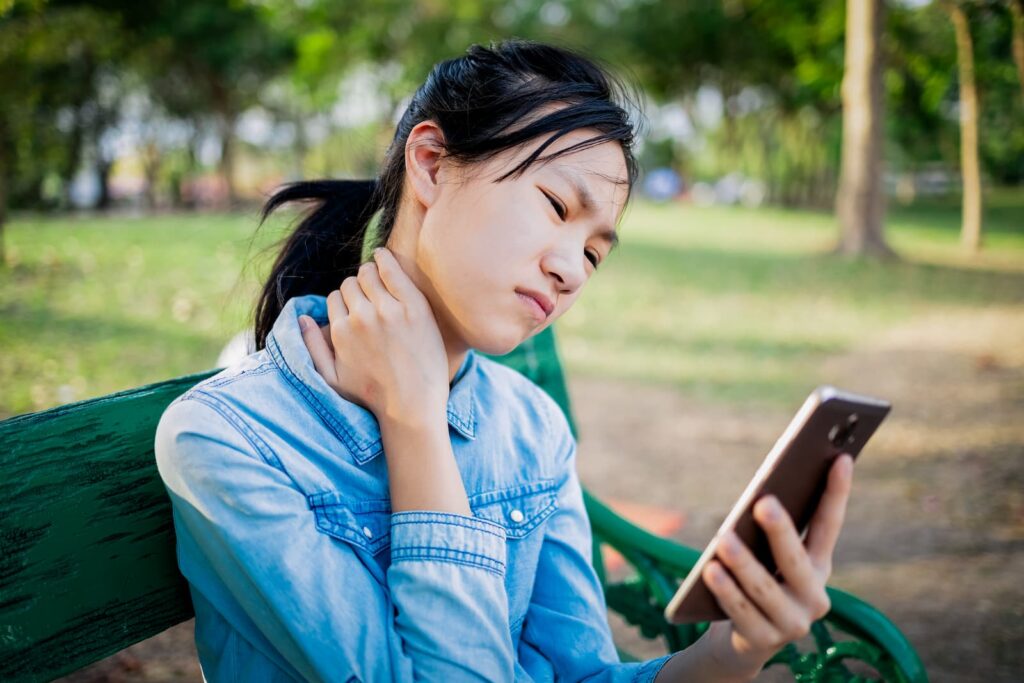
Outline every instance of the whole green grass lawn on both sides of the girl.
[[(558, 323), (569, 373), (668, 383), (710, 401), (798, 404), (825, 358), (913, 318), (1024, 315), (1024, 195), (986, 209), (986, 246), (958, 209), (893, 209), (902, 259), (828, 254), (827, 214), (637, 203), (623, 243)], [(19, 217), (0, 271), (0, 418), (211, 368), (246, 325), (255, 214)], [(272, 256), (272, 253), (270, 254)], [(244, 266), (246, 266), (244, 268)]]

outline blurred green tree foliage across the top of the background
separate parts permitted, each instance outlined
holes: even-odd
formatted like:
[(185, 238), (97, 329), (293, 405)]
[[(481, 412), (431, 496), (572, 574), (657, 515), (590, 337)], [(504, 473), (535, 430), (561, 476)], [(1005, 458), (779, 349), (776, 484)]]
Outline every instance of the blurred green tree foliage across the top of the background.
[[(1020, 183), (1024, 103), (1010, 11), (1001, 0), (967, 6), (983, 169), (991, 184)], [(99, 169), (105, 188), (116, 153), (103, 135), (128, 120), (140, 130), (150, 185), (164, 182), (180, 200), (182, 184), (203, 172), (197, 151), (212, 138), (230, 187), (238, 122), (254, 109), (294, 131), (274, 153), (289, 150), (289, 175), (366, 174), (392, 113), (435, 62), (508, 37), (580, 49), (635, 81), (648, 109), (681, 108), (692, 134), (654, 131), (647, 161), (691, 178), (739, 171), (764, 181), (775, 202), (826, 206), (844, 31), (843, 0), (6, 0), (0, 206), (67, 205), (83, 167)], [(889, 168), (954, 172), (947, 16), (934, 3), (888, 3), (885, 48)], [(340, 88), (368, 69), (386, 114), (340, 130), (332, 118)], [(710, 119), (709, 92), (720, 100)], [(181, 133), (168, 136), (172, 127)]]

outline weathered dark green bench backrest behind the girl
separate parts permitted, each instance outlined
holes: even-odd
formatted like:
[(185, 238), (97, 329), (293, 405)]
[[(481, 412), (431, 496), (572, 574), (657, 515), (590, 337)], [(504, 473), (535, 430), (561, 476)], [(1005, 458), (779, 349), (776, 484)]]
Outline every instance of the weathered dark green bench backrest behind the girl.
[[(490, 357), (575, 432), (551, 328)], [(0, 680), (52, 680), (191, 617), (153, 439), (214, 372), (0, 422)]]

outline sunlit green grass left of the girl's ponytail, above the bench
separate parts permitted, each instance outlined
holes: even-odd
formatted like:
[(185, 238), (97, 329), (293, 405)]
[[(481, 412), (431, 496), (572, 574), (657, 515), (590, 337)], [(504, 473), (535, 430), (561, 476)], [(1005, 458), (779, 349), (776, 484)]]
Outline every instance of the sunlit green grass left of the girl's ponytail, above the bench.
[(255, 224), (241, 215), (11, 223), (0, 416), (212, 368), (255, 296), (252, 273), (240, 275)]

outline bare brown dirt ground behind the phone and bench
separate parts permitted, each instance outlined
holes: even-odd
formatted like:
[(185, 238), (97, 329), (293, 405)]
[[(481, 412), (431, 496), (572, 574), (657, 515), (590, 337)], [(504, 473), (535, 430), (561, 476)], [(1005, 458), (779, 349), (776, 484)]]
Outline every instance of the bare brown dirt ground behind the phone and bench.
[[(886, 612), (937, 683), (1009, 683), (1024, 672), (1022, 340), (1019, 310), (950, 313), (820, 369), (822, 382), (895, 407), (857, 465), (830, 583)], [(601, 497), (682, 510), (676, 538), (696, 547), (802, 399), (755, 411), (600, 379), (573, 378), (569, 390), (585, 483)], [(637, 653), (660, 653), (617, 622), (615, 631)], [(201, 680), (191, 624), (68, 680)]]

